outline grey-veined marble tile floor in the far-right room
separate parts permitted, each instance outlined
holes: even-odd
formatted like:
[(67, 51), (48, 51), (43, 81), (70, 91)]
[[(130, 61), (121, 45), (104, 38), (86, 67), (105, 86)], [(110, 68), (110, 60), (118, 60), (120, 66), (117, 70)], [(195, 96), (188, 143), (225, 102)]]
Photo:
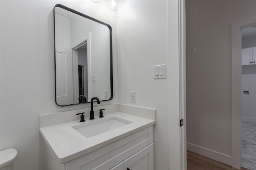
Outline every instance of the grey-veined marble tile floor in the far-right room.
[(242, 121), (242, 167), (256, 170), (256, 122)]

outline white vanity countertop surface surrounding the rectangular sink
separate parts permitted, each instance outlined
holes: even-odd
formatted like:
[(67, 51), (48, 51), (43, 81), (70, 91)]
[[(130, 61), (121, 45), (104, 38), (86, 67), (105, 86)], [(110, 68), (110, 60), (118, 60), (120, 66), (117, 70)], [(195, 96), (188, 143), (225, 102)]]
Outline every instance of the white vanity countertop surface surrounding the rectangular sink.
[[(132, 123), (90, 138), (84, 137), (72, 128), (72, 126), (75, 125), (85, 123), (90, 124), (91, 122), (96, 122), (106, 118), (109, 119), (109, 117), (118, 117), (131, 121)], [(103, 118), (95, 117), (94, 120), (86, 119), (85, 122), (77, 120), (42, 127), (40, 128), (40, 133), (56, 157), (58, 163), (63, 164), (154, 124), (155, 121), (152, 119), (146, 119), (117, 111), (105, 114)]]

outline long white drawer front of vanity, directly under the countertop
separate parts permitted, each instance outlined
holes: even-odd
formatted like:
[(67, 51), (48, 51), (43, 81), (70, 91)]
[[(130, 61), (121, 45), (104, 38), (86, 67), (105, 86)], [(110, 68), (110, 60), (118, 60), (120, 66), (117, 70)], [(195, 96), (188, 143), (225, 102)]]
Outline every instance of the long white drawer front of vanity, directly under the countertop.
[[(109, 170), (153, 142), (152, 126), (66, 163), (67, 170)], [(104, 166), (102, 166), (104, 164)]]

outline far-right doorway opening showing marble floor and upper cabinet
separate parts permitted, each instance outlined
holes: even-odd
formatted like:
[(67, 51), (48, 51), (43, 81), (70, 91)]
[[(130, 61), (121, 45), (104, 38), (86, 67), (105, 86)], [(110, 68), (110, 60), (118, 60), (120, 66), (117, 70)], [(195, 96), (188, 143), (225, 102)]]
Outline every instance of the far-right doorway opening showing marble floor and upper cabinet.
[(256, 170), (256, 25), (241, 29), (242, 167)]

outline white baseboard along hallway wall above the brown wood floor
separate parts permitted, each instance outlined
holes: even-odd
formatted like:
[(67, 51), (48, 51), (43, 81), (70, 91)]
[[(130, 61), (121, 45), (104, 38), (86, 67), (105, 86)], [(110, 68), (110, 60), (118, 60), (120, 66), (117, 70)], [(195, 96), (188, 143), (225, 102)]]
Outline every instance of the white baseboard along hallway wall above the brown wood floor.
[(200, 147), (198, 145), (194, 145), (192, 143), (187, 142), (187, 150), (200, 154), (202, 156), (217, 160), (229, 166), (232, 166), (232, 157), (226, 154), (222, 154), (220, 152), (216, 152), (214, 150), (210, 150), (204, 147)]

